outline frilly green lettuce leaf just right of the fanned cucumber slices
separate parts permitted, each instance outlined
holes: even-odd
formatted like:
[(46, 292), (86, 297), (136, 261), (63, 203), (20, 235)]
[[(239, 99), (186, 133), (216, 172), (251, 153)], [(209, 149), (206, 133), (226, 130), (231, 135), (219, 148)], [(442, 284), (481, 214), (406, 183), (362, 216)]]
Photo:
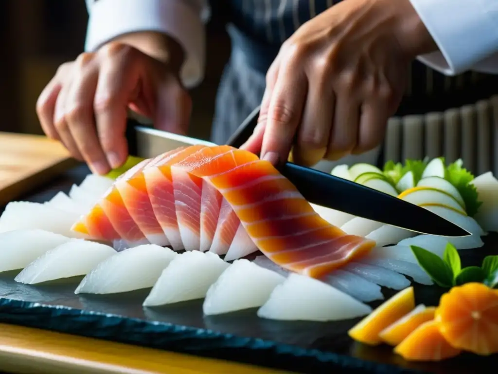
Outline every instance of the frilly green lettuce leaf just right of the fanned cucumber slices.
[(457, 160), (446, 168), (446, 180), (458, 189), (465, 202), (467, 214), (473, 217), (482, 202), (478, 200), (477, 189), (471, 184), (474, 176), (462, 167), (462, 160)]

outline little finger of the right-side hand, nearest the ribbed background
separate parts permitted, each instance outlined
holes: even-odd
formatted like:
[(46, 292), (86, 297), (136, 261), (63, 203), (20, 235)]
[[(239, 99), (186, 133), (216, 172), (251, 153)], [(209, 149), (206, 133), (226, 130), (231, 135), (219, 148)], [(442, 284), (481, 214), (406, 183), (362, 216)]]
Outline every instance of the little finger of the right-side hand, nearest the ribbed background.
[(384, 139), (389, 112), (383, 100), (370, 100), (362, 105), (358, 143), (351, 153), (357, 155), (374, 149)]

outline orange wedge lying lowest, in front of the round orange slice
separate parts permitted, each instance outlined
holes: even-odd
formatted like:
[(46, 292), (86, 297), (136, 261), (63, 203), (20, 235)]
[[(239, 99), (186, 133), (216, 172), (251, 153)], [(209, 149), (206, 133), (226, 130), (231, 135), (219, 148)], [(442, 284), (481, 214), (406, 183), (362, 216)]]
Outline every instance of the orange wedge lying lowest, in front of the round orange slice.
[(434, 320), (424, 322), (394, 348), (394, 353), (406, 361), (441, 361), (460, 354), (461, 350), (444, 339), (438, 325)]

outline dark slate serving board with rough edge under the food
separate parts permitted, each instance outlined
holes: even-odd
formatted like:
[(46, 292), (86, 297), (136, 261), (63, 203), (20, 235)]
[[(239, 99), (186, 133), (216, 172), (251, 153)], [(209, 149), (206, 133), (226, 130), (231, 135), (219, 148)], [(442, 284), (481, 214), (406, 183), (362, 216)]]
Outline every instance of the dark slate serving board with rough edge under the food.
[[(85, 167), (67, 173), (41, 192), (26, 196), (46, 201), (68, 191), (88, 173)], [(464, 265), (480, 264), (497, 253), (498, 235), (486, 246), (462, 253)], [(202, 301), (161, 308), (142, 308), (149, 290), (112, 296), (78, 296), (80, 281), (29, 286), (0, 274), (0, 322), (131, 343), (164, 350), (222, 358), (301, 373), (470, 373), (476, 365), (497, 357), (462, 355), (439, 364), (406, 363), (389, 347), (367, 347), (353, 342), (347, 331), (359, 319), (333, 323), (278, 322), (259, 319), (255, 310), (204, 317)], [(384, 290), (389, 297), (394, 292)], [(437, 305), (444, 290), (415, 285), (416, 302)], [(376, 306), (379, 303), (373, 305)]]

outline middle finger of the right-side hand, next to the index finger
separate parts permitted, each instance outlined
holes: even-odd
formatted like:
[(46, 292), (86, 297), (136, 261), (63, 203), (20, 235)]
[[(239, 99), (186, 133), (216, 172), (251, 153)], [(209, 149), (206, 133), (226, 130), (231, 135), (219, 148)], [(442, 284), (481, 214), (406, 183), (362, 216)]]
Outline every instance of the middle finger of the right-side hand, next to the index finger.
[(313, 166), (327, 152), (327, 145), (332, 123), (334, 121), (334, 93), (328, 81), (310, 80), (308, 96), (297, 141), (292, 150), (293, 162), (304, 166)]

